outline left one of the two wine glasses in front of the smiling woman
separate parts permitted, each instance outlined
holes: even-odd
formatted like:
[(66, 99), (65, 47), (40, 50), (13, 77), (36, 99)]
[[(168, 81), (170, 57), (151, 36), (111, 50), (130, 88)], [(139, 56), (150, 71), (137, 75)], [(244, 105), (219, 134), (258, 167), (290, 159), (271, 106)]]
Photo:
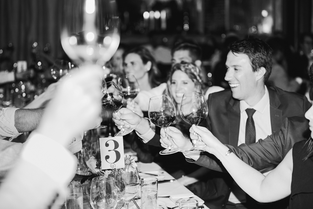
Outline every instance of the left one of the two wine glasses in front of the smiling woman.
[[(172, 99), (167, 94), (162, 94), (150, 98), (148, 114), (150, 121), (156, 126), (163, 128), (166, 132), (166, 128), (171, 125), (176, 118), (176, 108)], [(160, 154), (167, 155), (177, 153), (178, 151), (180, 151), (178, 147), (173, 148), (168, 146), (166, 149), (162, 150)]]

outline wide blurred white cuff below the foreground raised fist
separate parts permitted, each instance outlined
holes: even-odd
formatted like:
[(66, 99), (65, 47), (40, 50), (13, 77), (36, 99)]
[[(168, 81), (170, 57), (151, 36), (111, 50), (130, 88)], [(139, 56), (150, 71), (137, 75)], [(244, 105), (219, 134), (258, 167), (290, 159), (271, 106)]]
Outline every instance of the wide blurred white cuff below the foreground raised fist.
[(25, 142), (22, 159), (47, 174), (59, 188), (64, 188), (74, 176), (77, 158), (61, 144), (33, 132)]

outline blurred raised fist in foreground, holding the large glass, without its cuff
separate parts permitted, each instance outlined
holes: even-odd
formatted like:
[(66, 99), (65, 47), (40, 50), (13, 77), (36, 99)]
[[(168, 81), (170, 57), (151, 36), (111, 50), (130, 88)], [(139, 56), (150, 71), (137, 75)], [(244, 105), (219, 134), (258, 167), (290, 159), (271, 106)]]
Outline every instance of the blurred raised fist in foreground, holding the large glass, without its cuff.
[(37, 131), (65, 146), (82, 130), (90, 128), (101, 113), (101, 67), (84, 66), (59, 83)]

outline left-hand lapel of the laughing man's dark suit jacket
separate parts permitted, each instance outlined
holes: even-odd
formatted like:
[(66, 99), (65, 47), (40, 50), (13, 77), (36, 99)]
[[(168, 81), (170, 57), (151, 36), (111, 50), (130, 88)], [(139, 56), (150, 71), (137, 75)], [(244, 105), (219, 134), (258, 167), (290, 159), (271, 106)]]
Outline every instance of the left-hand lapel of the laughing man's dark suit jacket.
[(240, 105), (239, 101), (231, 98), (227, 108), (229, 125), (229, 145), (238, 146), (239, 126), (240, 126)]

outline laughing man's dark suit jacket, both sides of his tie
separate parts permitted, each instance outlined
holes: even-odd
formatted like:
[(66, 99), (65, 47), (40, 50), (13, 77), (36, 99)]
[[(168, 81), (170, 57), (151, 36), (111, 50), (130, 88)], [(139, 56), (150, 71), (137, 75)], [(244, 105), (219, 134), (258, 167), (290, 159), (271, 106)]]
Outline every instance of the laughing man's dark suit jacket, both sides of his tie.
[[(305, 96), (284, 91), (277, 87), (267, 87), (269, 92), (270, 120), (272, 131), (279, 131), (286, 117), (304, 115), (311, 104)], [(231, 90), (224, 90), (209, 95), (208, 98), (208, 130), (223, 144), (238, 147), (240, 107), (239, 100), (233, 99)], [(204, 153), (207, 155), (207, 153)], [(208, 157), (210, 154), (208, 154)], [(203, 159), (198, 159), (199, 163)], [(198, 162), (197, 161), (197, 162)], [(201, 163), (203, 165), (205, 163)], [(210, 177), (215, 182), (209, 208), (224, 208), (230, 194), (233, 179), (229, 174), (211, 172)]]

